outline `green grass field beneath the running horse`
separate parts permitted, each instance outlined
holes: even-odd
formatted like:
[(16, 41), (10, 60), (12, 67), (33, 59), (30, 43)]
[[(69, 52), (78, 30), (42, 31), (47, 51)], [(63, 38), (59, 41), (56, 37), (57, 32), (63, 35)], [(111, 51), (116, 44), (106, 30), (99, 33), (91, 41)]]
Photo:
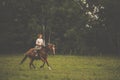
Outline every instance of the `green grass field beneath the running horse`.
[(49, 56), (47, 65), (34, 62), (37, 69), (29, 69), (29, 59), (19, 65), (21, 55), (0, 55), (0, 80), (120, 80), (120, 59), (118, 57), (96, 56)]

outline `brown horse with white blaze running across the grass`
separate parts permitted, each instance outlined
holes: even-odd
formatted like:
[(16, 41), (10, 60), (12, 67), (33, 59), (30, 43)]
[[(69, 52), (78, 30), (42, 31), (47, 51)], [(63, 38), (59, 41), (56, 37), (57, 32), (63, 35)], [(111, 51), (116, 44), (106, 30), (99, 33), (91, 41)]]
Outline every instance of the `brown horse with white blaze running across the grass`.
[(41, 50), (38, 51), (38, 56), (35, 56), (35, 53), (34, 53), (34, 48), (31, 48), (29, 49), (26, 53), (25, 53), (25, 56), (24, 58), (22, 59), (22, 61), (20, 62), (20, 64), (22, 64), (27, 57), (30, 58), (30, 63), (29, 63), (29, 67), (30, 69), (33, 67), (34, 69), (36, 68), (35, 65), (33, 64), (33, 61), (34, 60), (42, 60), (43, 61), (43, 65), (40, 66), (40, 68), (43, 68), (45, 63), (47, 64), (48, 66), (48, 69), (51, 70), (51, 67), (47, 61), (47, 56), (48, 56), (48, 52), (51, 51), (54, 55), (55, 55), (55, 45), (53, 44), (48, 44), (47, 46), (45, 47), (42, 47)]

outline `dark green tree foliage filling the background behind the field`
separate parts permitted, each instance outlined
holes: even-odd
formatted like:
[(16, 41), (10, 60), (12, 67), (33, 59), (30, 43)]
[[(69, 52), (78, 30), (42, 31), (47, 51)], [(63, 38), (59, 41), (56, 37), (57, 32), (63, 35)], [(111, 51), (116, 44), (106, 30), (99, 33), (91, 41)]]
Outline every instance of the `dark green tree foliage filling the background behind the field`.
[(119, 7), (119, 0), (1, 0), (1, 49), (34, 47), (43, 33), (59, 53), (119, 54)]

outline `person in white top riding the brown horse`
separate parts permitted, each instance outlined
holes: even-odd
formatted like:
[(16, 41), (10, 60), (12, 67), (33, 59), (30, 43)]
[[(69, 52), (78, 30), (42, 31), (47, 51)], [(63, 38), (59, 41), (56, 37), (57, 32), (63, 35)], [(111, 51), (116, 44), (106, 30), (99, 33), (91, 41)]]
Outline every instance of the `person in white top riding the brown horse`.
[(36, 46), (35, 46), (35, 56), (38, 56), (38, 51), (41, 50), (41, 48), (44, 46), (44, 41), (42, 38), (42, 34), (38, 34), (38, 38), (36, 40)]

